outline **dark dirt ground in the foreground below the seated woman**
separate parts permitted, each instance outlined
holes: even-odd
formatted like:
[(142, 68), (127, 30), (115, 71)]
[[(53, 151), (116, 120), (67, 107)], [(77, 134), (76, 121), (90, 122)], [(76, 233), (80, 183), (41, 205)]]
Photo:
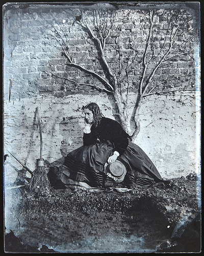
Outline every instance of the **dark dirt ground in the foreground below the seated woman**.
[[(6, 252), (199, 252), (199, 182), (195, 174), (135, 193), (52, 188), (11, 189), (18, 232), (7, 230)], [(6, 227), (7, 228), (7, 227)]]

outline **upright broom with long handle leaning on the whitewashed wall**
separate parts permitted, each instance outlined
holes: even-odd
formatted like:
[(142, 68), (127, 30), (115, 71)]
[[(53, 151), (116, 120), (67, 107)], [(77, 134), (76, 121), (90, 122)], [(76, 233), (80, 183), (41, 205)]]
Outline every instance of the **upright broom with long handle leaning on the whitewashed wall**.
[(37, 159), (37, 168), (33, 172), (33, 177), (30, 181), (30, 191), (45, 191), (50, 188), (50, 183), (47, 178), (44, 159), (42, 158), (42, 130), (41, 130), (41, 123), (40, 123), (40, 115), (39, 110), (37, 107), (37, 114), (38, 114), (38, 123), (39, 123), (39, 130), (40, 130), (40, 158)]

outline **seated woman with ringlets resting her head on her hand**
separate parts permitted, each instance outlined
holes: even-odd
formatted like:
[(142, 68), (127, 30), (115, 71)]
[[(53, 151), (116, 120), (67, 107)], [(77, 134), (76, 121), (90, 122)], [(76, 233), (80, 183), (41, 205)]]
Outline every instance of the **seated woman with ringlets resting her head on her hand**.
[(135, 188), (169, 183), (121, 125), (102, 116), (96, 103), (87, 104), (84, 113), (83, 146), (70, 152), (62, 166), (65, 186)]

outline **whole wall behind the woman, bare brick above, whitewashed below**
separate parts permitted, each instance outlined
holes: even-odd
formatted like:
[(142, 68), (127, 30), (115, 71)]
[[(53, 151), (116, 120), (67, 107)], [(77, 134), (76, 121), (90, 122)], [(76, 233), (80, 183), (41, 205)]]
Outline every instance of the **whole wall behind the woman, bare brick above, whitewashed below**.
[[(82, 8), (85, 9), (84, 12), (91, 24), (92, 7)], [(87, 39), (87, 33), (79, 25), (75, 23), (71, 26), (74, 20), (71, 12), (77, 9), (79, 8), (75, 6), (62, 8), (46, 4), (32, 4), (25, 8), (18, 4), (4, 6), (5, 148), (17, 154), (31, 169), (35, 168), (36, 159), (39, 157), (38, 125), (34, 120), (37, 106), (40, 106), (43, 127), (44, 158), (48, 162), (65, 156), (82, 142), (81, 108), (86, 102), (98, 102), (104, 114), (114, 118), (111, 96), (56, 77), (101, 86), (98, 80), (90, 75), (67, 67), (56, 38), (47, 35), (51, 33), (48, 27), (54, 29), (55, 24), (59, 31), (66, 35), (75, 63), (84, 64), (85, 68), (103, 75), (93, 41)], [(117, 15), (124, 16), (127, 12), (128, 8), (119, 9)], [(138, 51), (137, 62), (129, 74), (129, 80), (132, 82), (130, 115), (135, 100), (133, 92), (141, 78), (141, 61), (147, 38), (145, 28), (149, 26), (147, 13), (141, 8), (131, 9), (131, 15), (132, 23), (130, 19), (119, 22), (119, 31), (116, 26), (113, 27), (111, 36), (107, 39), (105, 52), (111, 68), (117, 72), (120, 67), (117, 52), (114, 50), (116, 43), (120, 45), (123, 66), (131, 54), (130, 42)], [(163, 24), (162, 29), (165, 30), (166, 24), (161, 23), (161, 20), (157, 22), (158, 25)], [(193, 41), (189, 47), (193, 50)], [(152, 65), (154, 66), (154, 63)], [(155, 81), (167, 79), (170, 74), (189, 74), (194, 66), (193, 54), (186, 55), (183, 59), (175, 57), (170, 65), (157, 71)], [(122, 79), (125, 85), (125, 77)], [(172, 82), (173, 86), (175, 84)], [(149, 97), (142, 106), (142, 129), (137, 143), (160, 168), (162, 176), (187, 175), (195, 170), (195, 101), (190, 98), (188, 103), (182, 106), (171, 101), (169, 97), (156, 100), (157, 97)], [(149, 109), (148, 113), (146, 108)], [(12, 161), (12, 164), (20, 168), (16, 161)], [(8, 163), (7, 166), (10, 172), (11, 164)]]

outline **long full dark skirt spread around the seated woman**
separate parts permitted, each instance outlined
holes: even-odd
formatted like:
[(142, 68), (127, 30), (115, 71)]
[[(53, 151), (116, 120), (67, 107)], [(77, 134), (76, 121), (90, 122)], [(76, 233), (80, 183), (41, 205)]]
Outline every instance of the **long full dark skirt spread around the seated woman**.
[(85, 184), (91, 187), (126, 187), (131, 188), (165, 183), (156, 166), (142, 149), (129, 142), (124, 153), (117, 158), (126, 167), (122, 182), (116, 182), (104, 172), (104, 165), (113, 154), (113, 145), (99, 142), (90, 146), (81, 146), (70, 152), (61, 169), (61, 181), (65, 186)]

